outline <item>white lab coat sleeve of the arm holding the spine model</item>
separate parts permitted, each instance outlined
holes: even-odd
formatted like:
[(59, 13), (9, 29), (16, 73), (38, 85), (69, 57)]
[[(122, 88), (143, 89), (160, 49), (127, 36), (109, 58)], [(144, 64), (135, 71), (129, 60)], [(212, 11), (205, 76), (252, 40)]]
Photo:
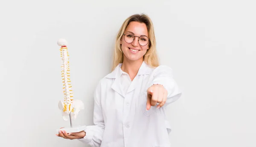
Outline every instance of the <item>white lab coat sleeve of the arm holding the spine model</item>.
[(89, 144), (91, 147), (100, 147), (105, 129), (101, 107), (101, 84), (97, 86), (94, 93), (93, 122), (94, 125), (87, 126), (86, 130), (84, 130), (86, 133), (84, 138), (78, 140), (85, 144)]

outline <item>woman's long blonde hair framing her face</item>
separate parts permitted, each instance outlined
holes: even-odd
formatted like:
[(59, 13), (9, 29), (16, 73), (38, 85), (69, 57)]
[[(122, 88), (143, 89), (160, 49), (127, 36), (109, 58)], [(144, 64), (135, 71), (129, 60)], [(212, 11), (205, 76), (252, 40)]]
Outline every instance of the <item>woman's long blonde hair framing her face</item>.
[(156, 51), (156, 39), (154, 35), (154, 26), (151, 21), (151, 19), (146, 15), (146, 14), (134, 14), (128, 17), (124, 23), (122, 24), (121, 28), (119, 29), (119, 32), (116, 36), (116, 43), (115, 43), (115, 49), (114, 49), (114, 55), (113, 55), (113, 67), (112, 71), (114, 68), (119, 63), (123, 62), (123, 54), (122, 54), (122, 49), (120, 45), (120, 40), (123, 36), (123, 33), (126, 29), (126, 27), (129, 25), (131, 22), (139, 22), (139, 23), (145, 23), (148, 29), (148, 37), (150, 39), (149, 43), (149, 48), (144, 55), (144, 61), (146, 64), (148, 64), (150, 67), (155, 68), (159, 66), (159, 61), (157, 57), (157, 51)]

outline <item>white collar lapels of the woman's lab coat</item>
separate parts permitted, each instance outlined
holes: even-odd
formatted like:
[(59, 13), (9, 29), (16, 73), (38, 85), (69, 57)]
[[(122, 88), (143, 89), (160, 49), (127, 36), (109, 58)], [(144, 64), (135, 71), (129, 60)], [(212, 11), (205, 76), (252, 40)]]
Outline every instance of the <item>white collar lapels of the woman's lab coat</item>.
[[(106, 76), (106, 78), (117, 78), (117, 77), (121, 76), (121, 74), (122, 74), (122, 72), (120, 72), (121, 66), (122, 66), (122, 63), (119, 63), (116, 66), (116, 68)], [(145, 61), (143, 61), (137, 75), (145, 75), (145, 74), (150, 74), (150, 66), (148, 66), (145, 63)]]

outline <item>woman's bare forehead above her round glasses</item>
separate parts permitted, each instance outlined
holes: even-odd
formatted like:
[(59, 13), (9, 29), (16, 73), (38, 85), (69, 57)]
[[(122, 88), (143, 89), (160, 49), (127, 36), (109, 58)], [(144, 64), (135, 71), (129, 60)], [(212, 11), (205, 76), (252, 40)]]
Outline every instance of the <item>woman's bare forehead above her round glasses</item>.
[(148, 29), (145, 23), (131, 22), (125, 29), (125, 32), (127, 31), (133, 32), (136, 36), (148, 36)]

